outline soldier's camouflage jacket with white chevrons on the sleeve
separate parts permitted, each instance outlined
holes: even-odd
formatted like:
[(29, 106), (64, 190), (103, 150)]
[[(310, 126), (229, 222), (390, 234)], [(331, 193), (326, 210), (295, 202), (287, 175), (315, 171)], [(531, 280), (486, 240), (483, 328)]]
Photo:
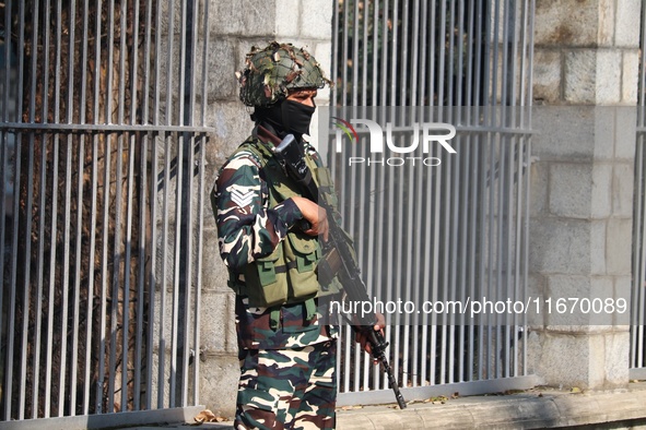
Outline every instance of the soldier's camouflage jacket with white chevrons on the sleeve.
[[(254, 133), (244, 144), (262, 145), (262, 142)], [(312, 145), (305, 143), (305, 151), (317, 165), (321, 165), (320, 156)], [(257, 155), (242, 147), (220, 169), (211, 193), (220, 254), (234, 274), (272, 253), (285, 239), (290, 227), (303, 217), (291, 199), (268, 207), (266, 175), (270, 175), (270, 169), (263, 169)], [(277, 308), (280, 311), (278, 327), (271, 321)], [(240, 348), (278, 349), (329, 341), (330, 336), (336, 336), (336, 331), (321, 322), (326, 309), (318, 309), (318, 318), (308, 321), (303, 302), (252, 307), (246, 296), (237, 295), (238, 345)]]

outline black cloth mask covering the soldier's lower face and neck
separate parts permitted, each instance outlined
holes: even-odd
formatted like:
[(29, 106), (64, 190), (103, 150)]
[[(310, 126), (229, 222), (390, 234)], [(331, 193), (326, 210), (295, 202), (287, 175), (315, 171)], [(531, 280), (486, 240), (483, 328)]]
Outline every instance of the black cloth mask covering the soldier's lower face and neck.
[(314, 106), (283, 100), (270, 108), (257, 108), (252, 119), (269, 122), (281, 138), (292, 133), (301, 140), (303, 134), (309, 134), (309, 124), (315, 110)]

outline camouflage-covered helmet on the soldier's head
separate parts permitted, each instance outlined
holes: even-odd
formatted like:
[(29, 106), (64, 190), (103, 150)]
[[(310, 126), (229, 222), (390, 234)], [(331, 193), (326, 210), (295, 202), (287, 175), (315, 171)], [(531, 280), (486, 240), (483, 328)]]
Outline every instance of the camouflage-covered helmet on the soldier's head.
[(270, 106), (286, 98), (290, 89), (322, 88), (331, 84), (309, 52), (278, 41), (263, 49), (251, 47), (245, 70), (236, 76), (240, 100), (247, 106)]

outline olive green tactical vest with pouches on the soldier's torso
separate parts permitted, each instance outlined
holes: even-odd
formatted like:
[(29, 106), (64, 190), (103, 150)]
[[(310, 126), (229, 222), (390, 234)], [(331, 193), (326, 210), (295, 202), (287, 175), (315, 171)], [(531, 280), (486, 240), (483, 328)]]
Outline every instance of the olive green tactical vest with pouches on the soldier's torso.
[[(236, 151), (248, 152), (261, 166), (268, 186), (268, 207), (275, 207), (283, 201), (301, 195), (299, 186), (283, 171), (273, 154), (257, 138), (249, 138)], [(234, 156), (235, 156), (234, 154)], [(327, 168), (317, 167), (306, 154), (305, 160), (313, 171), (313, 177), (328, 198), (333, 195), (330, 174)], [(336, 196), (332, 200), (336, 211)], [(330, 215), (332, 216), (332, 215)], [(247, 264), (240, 274), (230, 272), (230, 286), (249, 298), (249, 306), (272, 307), (305, 301), (307, 318), (314, 316), (315, 297), (340, 291), (340, 284), (334, 278), (328, 285), (320, 285), (316, 273), (317, 263), (322, 256), (318, 238), (292, 227), (275, 250), (263, 258)]]

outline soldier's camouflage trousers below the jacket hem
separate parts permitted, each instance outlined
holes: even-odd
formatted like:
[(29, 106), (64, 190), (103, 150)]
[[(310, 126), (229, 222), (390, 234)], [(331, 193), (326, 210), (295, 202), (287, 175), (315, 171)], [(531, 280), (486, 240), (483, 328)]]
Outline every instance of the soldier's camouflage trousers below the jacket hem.
[(337, 342), (243, 349), (236, 429), (333, 429)]

